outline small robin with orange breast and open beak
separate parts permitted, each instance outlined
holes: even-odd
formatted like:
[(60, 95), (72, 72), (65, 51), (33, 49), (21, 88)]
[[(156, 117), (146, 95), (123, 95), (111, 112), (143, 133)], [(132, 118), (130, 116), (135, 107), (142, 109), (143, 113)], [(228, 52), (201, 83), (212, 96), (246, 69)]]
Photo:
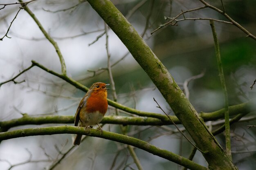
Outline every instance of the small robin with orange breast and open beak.
[[(92, 84), (89, 91), (81, 100), (75, 115), (75, 126), (85, 127), (98, 125), (108, 109), (107, 90), (109, 84), (97, 82)], [(101, 126), (99, 126), (101, 132)], [(74, 145), (79, 145), (82, 135), (76, 135)]]

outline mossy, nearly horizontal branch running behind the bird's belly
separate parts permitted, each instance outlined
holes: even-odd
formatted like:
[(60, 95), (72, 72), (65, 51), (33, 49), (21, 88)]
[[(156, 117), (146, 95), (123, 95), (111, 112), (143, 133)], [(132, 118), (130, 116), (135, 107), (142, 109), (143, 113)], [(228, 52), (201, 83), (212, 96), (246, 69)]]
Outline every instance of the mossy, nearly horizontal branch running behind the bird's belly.
[[(252, 106), (255, 104), (256, 99), (243, 104), (238, 104), (235, 106), (229, 106), (230, 116), (236, 115), (246, 115), (251, 111), (256, 111)], [(204, 121), (214, 121), (224, 118), (225, 109), (220, 109), (212, 113), (200, 113), (200, 117)], [(156, 113), (157, 114), (157, 113)], [(166, 116), (165, 116), (166, 117)], [(179, 119), (176, 116), (169, 116), (175, 124), (180, 124)], [(232, 120), (231, 120), (232, 122)], [(230, 122), (230, 124), (231, 124)], [(40, 124), (73, 124), (74, 116), (42, 116), (42, 117), (30, 117), (27, 114), (24, 114), (23, 117), (18, 119), (11, 119), (8, 121), (0, 121), (0, 132), (5, 132), (9, 128), (23, 125), (40, 125)], [(102, 124), (122, 124), (122, 125), (140, 125), (140, 126), (162, 126), (162, 125), (171, 125), (172, 122), (166, 117), (165, 121), (162, 121), (153, 117), (125, 117), (125, 116), (105, 116), (101, 121)], [(222, 132), (223, 130), (221, 130)]]

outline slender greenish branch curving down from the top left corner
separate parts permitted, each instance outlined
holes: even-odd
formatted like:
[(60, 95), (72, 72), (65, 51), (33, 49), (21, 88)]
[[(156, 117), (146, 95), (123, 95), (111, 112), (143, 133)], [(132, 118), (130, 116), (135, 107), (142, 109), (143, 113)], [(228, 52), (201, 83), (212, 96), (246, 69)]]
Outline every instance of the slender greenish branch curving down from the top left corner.
[[(22, 2), (22, 0), (19, 0), (19, 2)], [(65, 60), (63, 58), (63, 55), (61, 54), (61, 50), (59, 49), (58, 47), (58, 44), (57, 42), (55, 42), (52, 37), (45, 31), (45, 29), (43, 28), (42, 24), (39, 22), (39, 20), (36, 18), (36, 15), (28, 8), (28, 7), (25, 7), (24, 8), (25, 11), (27, 11), (27, 13), (31, 16), (31, 18), (33, 18), (33, 20), (36, 22), (36, 24), (38, 25), (39, 29), (42, 31), (42, 33), (45, 35), (45, 38), (47, 38), (47, 40), (49, 40), (49, 42), (54, 46), (57, 54), (58, 54), (58, 57), (60, 59), (60, 62), (61, 62), (61, 73), (63, 75), (66, 75), (67, 74), (67, 71), (66, 71), (66, 64), (65, 64)]]

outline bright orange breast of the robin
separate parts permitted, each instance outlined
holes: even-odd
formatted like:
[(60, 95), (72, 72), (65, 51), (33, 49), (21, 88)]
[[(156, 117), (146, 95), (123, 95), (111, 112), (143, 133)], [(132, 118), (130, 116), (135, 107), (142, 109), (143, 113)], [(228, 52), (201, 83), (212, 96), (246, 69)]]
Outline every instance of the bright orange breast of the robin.
[(107, 92), (94, 91), (90, 94), (86, 101), (85, 111), (87, 113), (94, 113), (99, 111), (105, 115), (108, 110)]

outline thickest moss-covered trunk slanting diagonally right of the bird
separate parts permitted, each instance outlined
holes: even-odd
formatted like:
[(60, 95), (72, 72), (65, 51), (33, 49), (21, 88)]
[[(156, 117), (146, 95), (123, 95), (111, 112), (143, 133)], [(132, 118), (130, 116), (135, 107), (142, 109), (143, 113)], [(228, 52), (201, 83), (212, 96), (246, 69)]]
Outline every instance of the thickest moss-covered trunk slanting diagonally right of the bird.
[[(207, 152), (203, 156), (209, 163), (209, 168), (236, 170), (234, 163), (209, 132), (204, 121), (189, 100), (186, 99), (168, 70), (120, 11), (109, 0), (88, 0), (88, 2), (112, 31), (116, 33), (138, 64), (148, 74), (177, 118), (180, 119), (191, 135), (196, 146)], [(212, 159), (213, 157), (219, 159)]]

